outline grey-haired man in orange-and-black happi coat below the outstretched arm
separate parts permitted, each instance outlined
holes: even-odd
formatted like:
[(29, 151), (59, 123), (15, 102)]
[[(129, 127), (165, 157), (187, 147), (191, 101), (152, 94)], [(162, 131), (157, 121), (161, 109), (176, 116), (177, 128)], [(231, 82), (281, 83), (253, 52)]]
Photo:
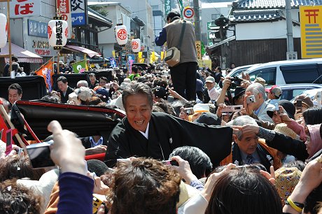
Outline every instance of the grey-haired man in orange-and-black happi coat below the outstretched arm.
[[(233, 126), (243, 126), (244, 124), (258, 126), (255, 120), (248, 115), (239, 116), (232, 122)], [(279, 169), (281, 166), (281, 159), (276, 155), (277, 150), (267, 146), (265, 140), (259, 139), (255, 132), (243, 133), (239, 130), (232, 136), (234, 139), (232, 152), (223, 159), (221, 165), (233, 163), (241, 166), (258, 163), (265, 166), (267, 171), (270, 166), (274, 166), (274, 169)]]

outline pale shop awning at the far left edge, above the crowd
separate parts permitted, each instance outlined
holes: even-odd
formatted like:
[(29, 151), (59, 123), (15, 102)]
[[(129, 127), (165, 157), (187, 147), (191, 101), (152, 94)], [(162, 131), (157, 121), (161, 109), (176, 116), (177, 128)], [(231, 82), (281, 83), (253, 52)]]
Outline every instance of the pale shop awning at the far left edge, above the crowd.
[[(8, 44), (1, 48), (0, 57), (4, 57), (4, 61), (9, 62), (9, 47)], [(11, 43), (11, 55), (18, 58), (18, 62), (27, 62), (27, 63), (43, 63), (43, 57), (40, 57), (33, 52), (20, 48), (18, 45)]]

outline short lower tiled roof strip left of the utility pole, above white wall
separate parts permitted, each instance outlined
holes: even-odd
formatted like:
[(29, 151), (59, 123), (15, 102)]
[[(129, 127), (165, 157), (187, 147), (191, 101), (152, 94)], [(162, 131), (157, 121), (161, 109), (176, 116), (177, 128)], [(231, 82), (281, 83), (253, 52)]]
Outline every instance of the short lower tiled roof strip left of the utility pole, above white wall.
[(280, 10), (235, 10), (231, 22), (266, 22), (276, 21), (281, 17)]

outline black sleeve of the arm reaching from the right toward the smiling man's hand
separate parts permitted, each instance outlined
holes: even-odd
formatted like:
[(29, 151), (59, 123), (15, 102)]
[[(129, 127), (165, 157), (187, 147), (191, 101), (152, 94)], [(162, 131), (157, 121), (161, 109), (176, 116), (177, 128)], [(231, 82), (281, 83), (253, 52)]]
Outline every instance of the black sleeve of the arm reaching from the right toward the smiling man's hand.
[(300, 159), (302, 162), (305, 162), (309, 154), (307, 154), (307, 149), (302, 141), (297, 141), (293, 138), (279, 134), (276, 132), (272, 141), (266, 141), (266, 144), (269, 147), (272, 147), (276, 150), (284, 152), (288, 155), (293, 155), (297, 159)]

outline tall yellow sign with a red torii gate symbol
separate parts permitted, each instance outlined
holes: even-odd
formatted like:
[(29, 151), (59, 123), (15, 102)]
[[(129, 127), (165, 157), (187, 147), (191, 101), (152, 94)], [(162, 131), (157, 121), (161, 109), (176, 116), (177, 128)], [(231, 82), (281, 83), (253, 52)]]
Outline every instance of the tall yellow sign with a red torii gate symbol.
[(322, 6), (300, 6), (302, 58), (322, 57)]

